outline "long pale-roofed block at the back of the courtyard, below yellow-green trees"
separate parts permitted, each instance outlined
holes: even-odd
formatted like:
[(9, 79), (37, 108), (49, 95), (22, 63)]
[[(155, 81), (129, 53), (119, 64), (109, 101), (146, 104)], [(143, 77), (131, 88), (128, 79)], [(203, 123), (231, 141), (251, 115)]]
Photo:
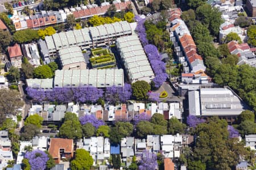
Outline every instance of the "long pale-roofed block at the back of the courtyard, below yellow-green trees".
[(44, 59), (54, 59), (57, 51), (64, 48), (79, 46), (81, 49), (90, 49), (111, 45), (115, 43), (118, 37), (132, 34), (133, 28), (131, 24), (126, 21), (121, 21), (99, 25), (97, 27), (55, 33), (52, 36), (46, 36), (45, 41), (40, 40), (39, 47)]

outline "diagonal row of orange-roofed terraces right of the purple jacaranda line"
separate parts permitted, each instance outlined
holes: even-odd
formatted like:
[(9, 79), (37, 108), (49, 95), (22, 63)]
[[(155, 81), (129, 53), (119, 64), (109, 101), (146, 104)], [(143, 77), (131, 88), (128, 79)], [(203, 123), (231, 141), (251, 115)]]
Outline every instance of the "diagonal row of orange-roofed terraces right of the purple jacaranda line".
[[(181, 77), (183, 83), (208, 83), (208, 76), (204, 73), (206, 67), (203, 58), (197, 54), (196, 44), (192, 39), (187, 25), (181, 20), (180, 8), (168, 10), (171, 28), (170, 39), (174, 42), (177, 61), (183, 65), (184, 73)], [(187, 78), (187, 73), (191, 73)], [(192, 79), (191, 79), (192, 78)]]

